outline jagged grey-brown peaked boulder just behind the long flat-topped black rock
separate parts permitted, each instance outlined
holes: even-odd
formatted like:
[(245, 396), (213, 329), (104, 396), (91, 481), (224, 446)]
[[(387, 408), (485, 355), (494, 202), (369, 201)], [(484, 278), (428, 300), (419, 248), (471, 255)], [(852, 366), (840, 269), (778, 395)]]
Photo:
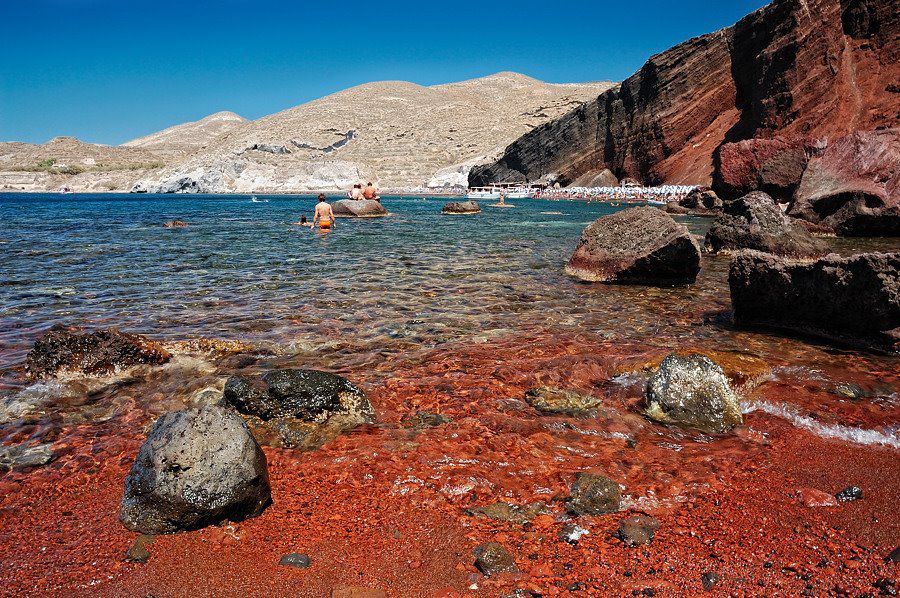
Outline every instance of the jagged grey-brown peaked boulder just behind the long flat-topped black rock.
[(756, 191), (725, 206), (706, 233), (706, 249), (716, 253), (756, 249), (776, 255), (818, 257), (827, 246), (785, 216), (771, 197)]

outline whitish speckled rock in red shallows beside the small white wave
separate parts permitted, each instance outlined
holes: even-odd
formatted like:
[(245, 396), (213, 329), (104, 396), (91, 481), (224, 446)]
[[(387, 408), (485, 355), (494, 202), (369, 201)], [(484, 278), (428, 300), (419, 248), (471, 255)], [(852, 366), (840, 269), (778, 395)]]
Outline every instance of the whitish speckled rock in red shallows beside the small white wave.
[(743, 422), (741, 407), (722, 368), (704, 355), (668, 355), (647, 382), (651, 419), (709, 434)]

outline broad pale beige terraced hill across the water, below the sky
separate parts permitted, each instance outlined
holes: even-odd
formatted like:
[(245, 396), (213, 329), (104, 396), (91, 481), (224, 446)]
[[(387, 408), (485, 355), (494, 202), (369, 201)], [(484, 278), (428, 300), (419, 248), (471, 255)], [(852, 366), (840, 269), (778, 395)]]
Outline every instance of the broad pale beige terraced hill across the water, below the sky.
[(423, 87), (369, 83), (235, 127), (140, 180), (149, 192), (299, 192), (465, 185), (469, 169), (610, 83), (515, 73)]

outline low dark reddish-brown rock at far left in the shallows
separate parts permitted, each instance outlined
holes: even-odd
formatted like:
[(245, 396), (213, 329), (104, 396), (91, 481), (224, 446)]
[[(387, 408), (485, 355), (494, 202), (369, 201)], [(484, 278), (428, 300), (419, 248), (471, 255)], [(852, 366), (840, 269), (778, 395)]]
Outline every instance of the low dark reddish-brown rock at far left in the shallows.
[(137, 334), (57, 325), (34, 344), (25, 369), (33, 379), (68, 372), (104, 375), (117, 368), (166, 363), (169, 357), (162, 345)]

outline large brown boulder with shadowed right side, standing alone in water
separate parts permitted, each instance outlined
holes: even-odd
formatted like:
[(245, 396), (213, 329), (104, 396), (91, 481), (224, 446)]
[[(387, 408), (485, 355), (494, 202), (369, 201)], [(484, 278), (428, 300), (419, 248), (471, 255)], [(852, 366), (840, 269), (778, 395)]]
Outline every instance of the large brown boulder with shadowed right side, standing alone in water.
[(652, 207), (594, 221), (566, 266), (584, 281), (652, 285), (690, 283), (699, 271), (700, 247), (687, 227)]

